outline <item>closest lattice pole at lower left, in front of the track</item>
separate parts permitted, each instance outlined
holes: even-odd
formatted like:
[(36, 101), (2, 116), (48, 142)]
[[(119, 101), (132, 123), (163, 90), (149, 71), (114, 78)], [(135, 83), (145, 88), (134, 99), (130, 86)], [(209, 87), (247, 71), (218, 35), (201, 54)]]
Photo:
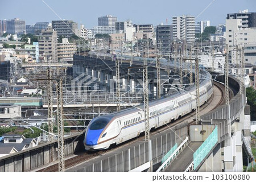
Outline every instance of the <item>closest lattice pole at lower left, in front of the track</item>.
[(64, 172), (64, 123), (63, 123), (63, 85), (62, 79), (57, 80), (57, 128), (58, 128), (58, 154), (59, 154), (59, 172)]

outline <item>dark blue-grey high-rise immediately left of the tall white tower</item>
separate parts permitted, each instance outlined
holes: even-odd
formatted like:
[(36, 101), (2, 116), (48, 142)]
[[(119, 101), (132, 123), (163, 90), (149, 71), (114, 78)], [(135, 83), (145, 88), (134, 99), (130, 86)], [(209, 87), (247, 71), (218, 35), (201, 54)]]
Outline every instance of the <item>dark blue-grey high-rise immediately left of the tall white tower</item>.
[(172, 42), (172, 26), (171, 25), (159, 25), (156, 26), (156, 43), (160, 53), (163, 55), (171, 54)]

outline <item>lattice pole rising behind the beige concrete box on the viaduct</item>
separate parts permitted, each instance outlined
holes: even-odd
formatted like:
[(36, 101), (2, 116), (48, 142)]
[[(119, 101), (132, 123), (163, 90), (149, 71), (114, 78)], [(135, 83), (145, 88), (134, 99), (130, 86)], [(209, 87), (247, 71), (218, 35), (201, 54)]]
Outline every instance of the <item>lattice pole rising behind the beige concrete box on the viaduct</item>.
[(199, 90), (199, 60), (195, 59), (195, 73), (196, 73), (196, 125), (200, 123), (200, 90)]

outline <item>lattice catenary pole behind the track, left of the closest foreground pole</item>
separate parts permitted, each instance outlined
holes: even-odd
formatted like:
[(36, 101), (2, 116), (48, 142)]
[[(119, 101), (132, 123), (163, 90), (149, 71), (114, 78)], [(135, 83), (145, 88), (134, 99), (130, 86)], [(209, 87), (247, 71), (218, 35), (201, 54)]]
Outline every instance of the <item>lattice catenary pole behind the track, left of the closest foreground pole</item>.
[[(47, 99), (48, 99), (48, 132), (53, 133), (53, 109), (52, 109), (52, 80), (51, 80), (51, 67), (47, 68)], [(53, 136), (49, 136), (49, 142), (53, 141)], [(50, 160), (53, 162), (54, 146), (51, 146)]]

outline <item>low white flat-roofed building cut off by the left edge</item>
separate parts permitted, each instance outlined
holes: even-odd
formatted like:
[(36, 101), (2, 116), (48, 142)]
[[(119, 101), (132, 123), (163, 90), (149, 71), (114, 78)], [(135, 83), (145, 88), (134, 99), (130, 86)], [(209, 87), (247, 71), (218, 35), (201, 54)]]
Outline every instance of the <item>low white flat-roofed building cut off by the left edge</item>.
[(0, 104), (0, 119), (21, 117), (21, 105)]

